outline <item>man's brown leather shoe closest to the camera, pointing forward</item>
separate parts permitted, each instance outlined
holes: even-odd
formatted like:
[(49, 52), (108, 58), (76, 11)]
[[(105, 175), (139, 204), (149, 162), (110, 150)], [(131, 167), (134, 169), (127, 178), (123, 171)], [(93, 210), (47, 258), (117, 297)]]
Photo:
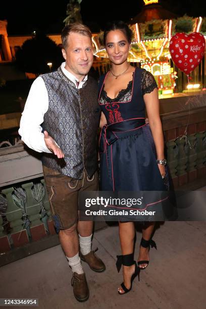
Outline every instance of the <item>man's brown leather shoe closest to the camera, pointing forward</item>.
[(86, 301), (89, 298), (89, 288), (86, 282), (85, 274), (73, 273), (72, 286), (74, 297), (78, 301)]

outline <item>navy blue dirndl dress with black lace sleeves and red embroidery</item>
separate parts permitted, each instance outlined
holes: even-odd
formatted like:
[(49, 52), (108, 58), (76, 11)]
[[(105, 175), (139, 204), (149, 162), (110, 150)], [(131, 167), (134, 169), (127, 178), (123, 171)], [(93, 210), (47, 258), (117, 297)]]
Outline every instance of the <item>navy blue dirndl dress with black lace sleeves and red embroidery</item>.
[(99, 138), (100, 189), (168, 190), (167, 171), (163, 180), (156, 162), (155, 143), (149, 125), (145, 124), (143, 94), (157, 87), (155, 78), (136, 68), (127, 88), (111, 99), (104, 90), (107, 74), (100, 77), (98, 96), (107, 119)]

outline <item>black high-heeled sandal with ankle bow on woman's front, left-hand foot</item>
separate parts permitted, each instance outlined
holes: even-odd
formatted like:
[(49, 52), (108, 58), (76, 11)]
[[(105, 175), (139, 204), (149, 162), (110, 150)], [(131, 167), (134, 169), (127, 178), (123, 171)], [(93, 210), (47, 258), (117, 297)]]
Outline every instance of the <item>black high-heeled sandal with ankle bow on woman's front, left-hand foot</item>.
[(128, 293), (132, 289), (132, 282), (133, 282), (134, 278), (138, 275), (138, 279), (139, 279), (140, 269), (137, 266), (136, 261), (134, 261), (134, 253), (125, 254), (125, 255), (117, 255), (116, 266), (117, 266), (118, 273), (119, 273), (122, 265), (124, 265), (124, 266), (132, 266), (133, 264), (135, 264), (135, 270), (134, 270), (134, 274), (132, 275), (131, 280), (130, 280), (130, 283), (131, 283), (130, 288), (129, 289), (126, 288), (126, 286), (124, 285), (124, 281), (123, 281), (122, 284), (121, 284), (121, 287), (124, 290), (124, 293), (120, 293), (120, 291), (118, 291), (118, 293), (120, 295), (126, 294), (126, 293)]

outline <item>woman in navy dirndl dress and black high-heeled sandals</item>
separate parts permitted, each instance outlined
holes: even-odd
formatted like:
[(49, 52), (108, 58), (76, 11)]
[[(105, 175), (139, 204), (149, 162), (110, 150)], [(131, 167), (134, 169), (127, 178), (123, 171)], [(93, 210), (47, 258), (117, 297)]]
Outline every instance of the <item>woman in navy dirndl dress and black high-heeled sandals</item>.
[[(158, 86), (152, 74), (127, 62), (131, 39), (132, 31), (121, 21), (108, 24), (104, 33), (111, 70), (99, 81), (101, 190), (166, 190)], [(149, 125), (145, 124), (145, 108)], [(124, 278), (119, 294), (130, 291), (134, 277), (147, 267), (154, 226), (154, 222), (143, 226), (137, 267), (134, 223), (119, 222), (122, 255), (117, 267), (123, 264)]]

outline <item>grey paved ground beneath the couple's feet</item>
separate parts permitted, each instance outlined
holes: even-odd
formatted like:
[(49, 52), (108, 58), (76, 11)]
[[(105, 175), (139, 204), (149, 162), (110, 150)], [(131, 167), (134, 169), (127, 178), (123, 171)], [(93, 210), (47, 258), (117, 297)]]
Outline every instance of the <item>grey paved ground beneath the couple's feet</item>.
[[(115, 262), (120, 254), (118, 227), (95, 232), (93, 248), (104, 259), (107, 270), (98, 274), (84, 269), (90, 298), (79, 303), (73, 297), (71, 271), (61, 246), (41, 251), (0, 269), (0, 297), (39, 298), (41, 309), (128, 308), (203, 309), (206, 304), (206, 224), (204, 222), (165, 222), (153, 239), (158, 250), (150, 250), (150, 264), (135, 279), (133, 290), (119, 295), (122, 282)], [(137, 232), (137, 256), (140, 233)]]

